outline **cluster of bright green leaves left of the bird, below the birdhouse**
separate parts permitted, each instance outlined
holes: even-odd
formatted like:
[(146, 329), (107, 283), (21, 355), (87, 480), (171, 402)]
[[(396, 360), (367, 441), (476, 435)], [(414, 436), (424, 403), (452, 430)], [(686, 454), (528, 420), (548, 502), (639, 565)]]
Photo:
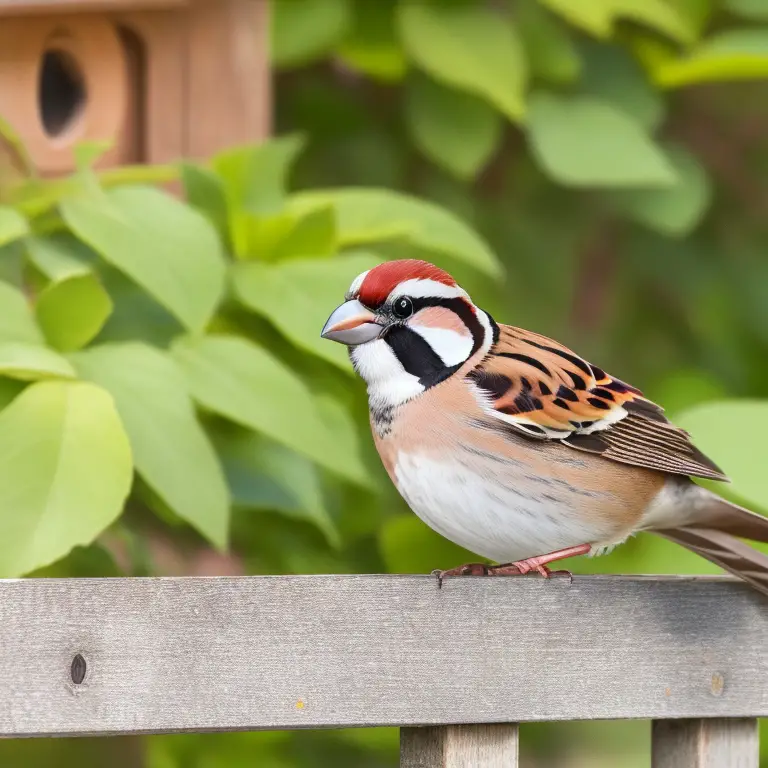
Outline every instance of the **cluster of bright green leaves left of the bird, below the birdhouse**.
[[(149, 171), (110, 171), (105, 184), (90, 168), (100, 145), (78, 149), (70, 178), (0, 187), (0, 573), (90, 544), (129, 490), (131, 528), (154, 512), (228, 551), (233, 510), (268, 510), (342, 546), (334, 496), (351, 484), (370, 498), (379, 484), (364, 396), (344, 394), (351, 367), (321, 343), (325, 319), (383, 242), (499, 267), (421, 200), (291, 194), (303, 144), (184, 163), (186, 202), (137, 184)], [(360, 243), (371, 250), (348, 249)]]

